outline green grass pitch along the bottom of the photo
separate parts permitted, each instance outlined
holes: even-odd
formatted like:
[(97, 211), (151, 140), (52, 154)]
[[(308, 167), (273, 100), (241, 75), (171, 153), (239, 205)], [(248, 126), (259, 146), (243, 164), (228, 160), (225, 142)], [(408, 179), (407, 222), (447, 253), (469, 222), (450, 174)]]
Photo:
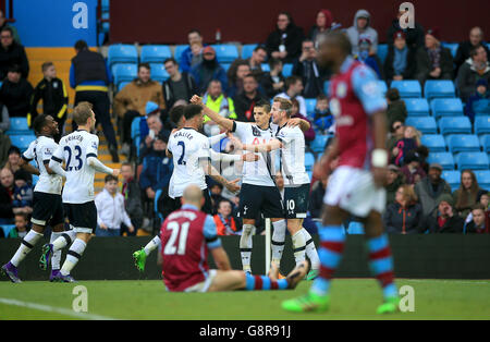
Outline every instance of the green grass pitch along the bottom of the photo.
[[(78, 283), (0, 282), (1, 319), (490, 319), (488, 280), (408, 280), (399, 288), (414, 289), (415, 312), (390, 316), (375, 314), (381, 292), (372, 279), (339, 279), (332, 283), (331, 307), (323, 314), (291, 314), (283, 300), (308, 291), (302, 282), (294, 291), (236, 291), (222, 293), (169, 293), (161, 281), (81, 281)], [(76, 316), (73, 289), (84, 285), (88, 315)], [(16, 300), (17, 305), (12, 305)], [(10, 302), (9, 302), (10, 301)], [(5, 302), (9, 302), (7, 304)], [(33, 305), (41, 305), (41, 307)], [(73, 313), (73, 314), (72, 314)]]

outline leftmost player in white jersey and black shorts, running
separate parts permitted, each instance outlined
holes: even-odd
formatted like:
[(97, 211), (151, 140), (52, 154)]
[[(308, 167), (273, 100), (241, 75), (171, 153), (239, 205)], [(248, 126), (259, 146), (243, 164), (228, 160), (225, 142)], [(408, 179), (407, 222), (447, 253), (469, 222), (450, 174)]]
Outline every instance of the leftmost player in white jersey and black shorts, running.
[[(12, 259), (2, 266), (2, 272), (15, 283), (21, 282), (17, 274), (19, 265), (42, 237), (46, 225), (49, 224), (52, 228), (51, 242), (62, 234), (66, 234), (66, 239), (70, 239), (69, 235), (72, 234), (71, 232), (64, 232), (63, 227), (62, 176), (56, 174), (48, 166), (52, 154), (58, 148), (58, 144), (53, 139), (53, 136), (59, 133), (58, 123), (51, 115), (42, 114), (34, 120), (33, 129), (37, 139), (30, 143), (27, 150), (22, 155), (23, 168), (30, 173), (39, 174), (39, 180), (34, 187), (34, 208), (30, 219), (33, 229), (22, 240), (21, 246)], [(36, 160), (39, 170), (28, 163), (30, 160)], [(60, 271), (60, 260), (61, 251), (52, 256), (50, 281)]]

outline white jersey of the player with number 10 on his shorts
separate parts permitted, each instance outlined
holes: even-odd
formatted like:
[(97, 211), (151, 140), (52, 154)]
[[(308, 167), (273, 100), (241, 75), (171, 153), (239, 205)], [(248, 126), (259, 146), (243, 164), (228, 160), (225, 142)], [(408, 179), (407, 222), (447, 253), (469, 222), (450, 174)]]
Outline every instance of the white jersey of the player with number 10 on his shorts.
[(275, 138), (283, 145), (279, 152), (284, 186), (309, 184), (309, 176), (305, 169), (305, 135), (303, 131), (297, 126), (283, 126), (278, 130)]

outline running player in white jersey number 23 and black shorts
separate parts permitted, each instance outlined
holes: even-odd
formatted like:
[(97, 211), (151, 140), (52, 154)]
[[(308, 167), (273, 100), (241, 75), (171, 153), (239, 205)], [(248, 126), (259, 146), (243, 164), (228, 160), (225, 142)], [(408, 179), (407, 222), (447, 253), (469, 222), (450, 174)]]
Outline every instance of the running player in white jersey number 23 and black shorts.
[[(66, 252), (66, 259), (54, 281), (74, 282), (70, 274), (81, 259), (93, 232), (97, 228), (97, 208), (94, 201), (94, 176), (96, 171), (118, 176), (120, 170), (112, 170), (97, 159), (99, 137), (90, 132), (96, 119), (89, 102), (79, 102), (73, 110), (73, 120), (78, 130), (62, 137), (49, 167), (58, 174), (66, 174), (63, 188), (63, 205), (70, 225), (76, 239)], [(61, 167), (65, 162), (66, 171)], [(42, 247), (42, 257), (49, 259), (52, 253), (65, 247), (68, 241), (59, 237)], [(42, 258), (41, 257), (41, 258)]]

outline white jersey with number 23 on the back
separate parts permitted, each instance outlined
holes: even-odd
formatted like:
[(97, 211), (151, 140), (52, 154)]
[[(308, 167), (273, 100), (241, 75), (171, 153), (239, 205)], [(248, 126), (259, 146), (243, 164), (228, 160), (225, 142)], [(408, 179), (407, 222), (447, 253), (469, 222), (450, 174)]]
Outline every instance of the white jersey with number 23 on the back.
[(87, 131), (75, 131), (60, 139), (60, 146), (52, 159), (66, 164), (63, 203), (83, 204), (94, 200), (96, 171), (88, 164), (87, 158), (97, 158), (98, 147), (99, 137)]

